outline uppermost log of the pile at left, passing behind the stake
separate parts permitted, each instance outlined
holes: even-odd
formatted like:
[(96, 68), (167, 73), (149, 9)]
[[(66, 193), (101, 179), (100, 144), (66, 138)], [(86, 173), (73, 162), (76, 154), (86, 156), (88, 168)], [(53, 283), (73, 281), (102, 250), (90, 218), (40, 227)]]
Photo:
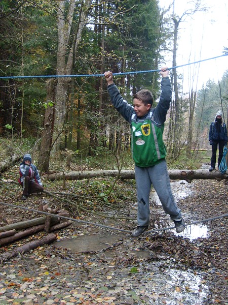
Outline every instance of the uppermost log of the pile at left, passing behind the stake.
[[(20, 230), (20, 229), (29, 228), (29, 227), (36, 226), (36, 225), (42, 225), (45, 223), (45, 221), (46, 221), (46, 216), (40, 217), (40, 218), (34, 218), (31, 220), (21, 221), (21, 222), (17, 222), (17, 223), (11, 224), (11, 225), (1, 227), (0, 232), (5, 232), (5, 231), (13, 230), (13, 229)], [(59, 221), (60, 221), (60, 219), (58, 217), (52, 218), (52, 224), (58, 223)]]

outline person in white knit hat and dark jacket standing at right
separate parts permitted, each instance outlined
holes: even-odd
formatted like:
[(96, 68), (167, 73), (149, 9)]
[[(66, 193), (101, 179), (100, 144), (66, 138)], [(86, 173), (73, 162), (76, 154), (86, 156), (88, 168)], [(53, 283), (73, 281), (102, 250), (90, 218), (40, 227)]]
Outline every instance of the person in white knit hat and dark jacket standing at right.
[(216, 113), (214, 121), (210, 125), (209, 141), (212, 145), (211, 167), (209, 171), (215, 169), (216, 152), (218, 147), (218, 168), (222, 160), (224, 145), (227, 145), (227, 130), (225, 123), (222, 122), (222, 112), (219, 110)]

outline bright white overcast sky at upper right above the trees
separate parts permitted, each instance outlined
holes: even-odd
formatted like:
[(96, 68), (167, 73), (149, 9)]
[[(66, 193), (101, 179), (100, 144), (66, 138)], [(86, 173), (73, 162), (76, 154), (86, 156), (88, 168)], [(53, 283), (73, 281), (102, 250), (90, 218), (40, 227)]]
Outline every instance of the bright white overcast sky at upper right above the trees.
[[(159, 0), (161, 8), (167, 8), (172, 0)], [(179, 39), (177, 51), (177, 66), (222, 55), (223, 48), (228, 48), (228, 2), (227, 0), (202, 0), (204, 6), (209, 7), (207, 12), (198, 12), (181, 22), (179, 26)], [(175, 14), (181, 16), (182, 13), (191, 8), (191, 3), (186, 0), (175, 0)], [(169, 14), (172, 13), (172, 9)], [(167, 56), (167, 65), (172, 66)], [(228, 56), (202, 62), (199, 68), (198, 84), (196, 84), (198, 65), (191, 65), (178, 68), (179, 73), (184, 76), (184, 88), (191, 87), (200, 89), (206, 85), (207, 80), (213, 79), (215, 82), (221, 79), (223, 73), (228, 70)], [(194, 72), (195, 70), (195, 72)]]

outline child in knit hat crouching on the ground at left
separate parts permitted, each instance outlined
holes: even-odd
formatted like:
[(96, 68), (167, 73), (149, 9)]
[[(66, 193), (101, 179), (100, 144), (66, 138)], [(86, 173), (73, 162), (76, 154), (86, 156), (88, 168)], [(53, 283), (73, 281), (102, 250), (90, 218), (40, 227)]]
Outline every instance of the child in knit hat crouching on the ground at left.
[(26, 200), (27, 196), (32, 193), (41, 193), (44, 191), (41, 178), (37, 167), (31, 163), (31, 155), (24, 155), (23, 162), (20, 164), (18, 179), (23, 188), (21, 200)]

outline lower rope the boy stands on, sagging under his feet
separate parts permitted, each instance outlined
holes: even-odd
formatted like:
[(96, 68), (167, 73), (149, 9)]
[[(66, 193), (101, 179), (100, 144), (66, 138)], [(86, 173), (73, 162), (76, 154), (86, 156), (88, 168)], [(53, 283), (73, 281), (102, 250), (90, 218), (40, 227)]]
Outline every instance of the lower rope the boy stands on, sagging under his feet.
[[(80, 219), (74, 219), (74, 218), (65, 217), (65, 216), (58, 216), (58, 214), (51, 214), (51, 213), (48, 213), (48, 212), (39, 211), (39, 210), (36, 210), (36, 209), (33, 209), (33, 208), (24, 207), (24, 206), (21, 206), (21, 205), (15, 205), (15, 204), (6, 203), (6, 202), (0, 202), (0, 204), (4, 204), (4, 205), (7, 205), (7, 206), (16, 207), (16, 208), (21, 208), (21, 209), (24, 209), (24, 210), (27, 210), (27, 211), (36, 212), (38, 214), (51, 215), (51, 216), (55, 216), (55, 217), (59, 217), (59, 218), (67, 219), (67, 220), (81, 222), (81, 223), (84, 223), (84, 224), (90, 224), (90, 225), (93, 225), (95, 227), (101, 227), (101, 228), (107, 228), (107, 229), (111, 229), (111, 230), (117, 230), (117, 231), (132, 233), (132, 231), (129, 231), (129, 230), (124, 230), (124, 229), (111, 227), (111, 226), (105, 226), (105, 225), (101, 225), (101, 224), (98, 224), (98, 223), (93, 223), (93, 222), (84, 221), (84, 220), (80, 220)], [(220, 215), (220, 216), (215, 216), (215, 217), (212, 217), (212, 218), (203, 219), (203, 220), (200, 220), (200, 221), (194, 221), (192, 223), (185, 224), (185, 227), (190, 226), (190, 225), (199, 224), (199, 223), (204, 223), (204, 222), (207, 222), (207, 221), (210, 221), (210, 220), (215, 220), (215, 219), (219, 219), (219, 218), (223, 218), (223, 217), (228, 217), (228, 214), (223, 214), (223, 215)], [(174, 229), (174, 228), (175, 228), (175, 226), (167, 227), (167, 228), (161, 228), (161, 229), (154, 229), (154, 230), (150, 230), (150, 231), (145, 231), (144, 233), (167, 231), (167, 230)]]

